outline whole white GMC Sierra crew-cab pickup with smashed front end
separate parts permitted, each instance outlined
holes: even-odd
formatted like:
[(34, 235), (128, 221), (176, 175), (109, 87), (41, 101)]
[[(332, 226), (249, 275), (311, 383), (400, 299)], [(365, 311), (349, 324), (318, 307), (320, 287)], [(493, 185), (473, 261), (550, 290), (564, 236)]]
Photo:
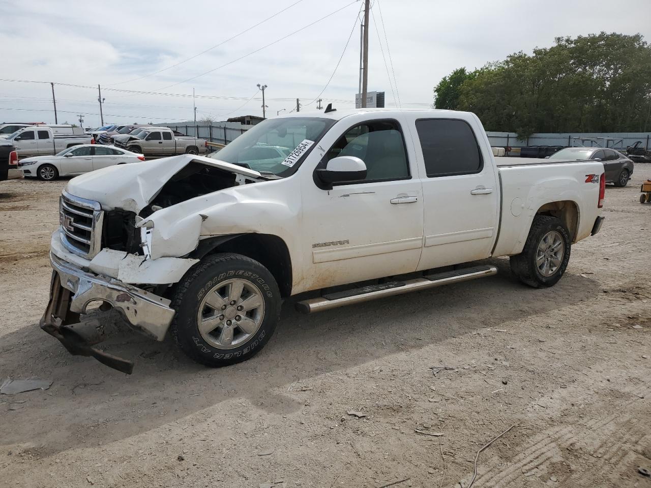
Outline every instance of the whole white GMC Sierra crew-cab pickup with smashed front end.
[(525, 284), (552, 286), (572, 244), (600, 230), (603, 173), (598, 161), (495, 158), (472, 113), (265, 120), (215, 158), (71, 180), (41, 326), (71, 353), (130, 373), (72, 325), (102, 301), (223, 366), (260, 351), (283, 300), (306, 291), (297, 308), (317, 312), (488, 277), (490, 263), (456, 265), (495, 256), (510, 256)]

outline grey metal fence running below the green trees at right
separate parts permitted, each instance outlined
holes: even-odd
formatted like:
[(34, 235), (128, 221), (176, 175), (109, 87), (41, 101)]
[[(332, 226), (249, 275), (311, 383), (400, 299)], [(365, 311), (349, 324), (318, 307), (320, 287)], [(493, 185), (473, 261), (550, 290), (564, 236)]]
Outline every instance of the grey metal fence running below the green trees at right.
[(523, 141), (513, 132), (486, 132), (492, 146), (521, 148), (525, 146), (587, 146), (624, 150), (637, 141), (649, 147), (649, 132), (611, 132), (611, 133), (539, 133), (532, 134)]

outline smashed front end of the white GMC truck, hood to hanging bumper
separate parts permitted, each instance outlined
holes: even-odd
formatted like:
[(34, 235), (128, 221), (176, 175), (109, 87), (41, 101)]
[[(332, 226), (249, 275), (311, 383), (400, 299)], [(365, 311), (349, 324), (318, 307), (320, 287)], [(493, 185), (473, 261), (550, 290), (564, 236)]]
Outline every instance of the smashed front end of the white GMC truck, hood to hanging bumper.
[(132, 373), (133, 362), (92, 347), (93, 341), (73, 327), (80, 314), (101, 302), (100, 308), (114, 308), (133, 329), (163, 340), (174, 318), (165, 295), (199, 261), (190, 254), (205, 217), (164, 214), (192, 198), (261, 180), (255, 171), (190, 155), (71, 180), (60, 200), (61, 226), (51, 238), (53, 274), (41, 328), (73, 355)]

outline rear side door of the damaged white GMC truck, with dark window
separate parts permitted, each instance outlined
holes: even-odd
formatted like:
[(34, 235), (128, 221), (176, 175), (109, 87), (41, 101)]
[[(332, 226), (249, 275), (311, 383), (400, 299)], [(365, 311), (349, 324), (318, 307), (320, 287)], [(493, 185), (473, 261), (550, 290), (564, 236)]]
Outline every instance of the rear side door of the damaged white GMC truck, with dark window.
[(478, 119), (411, 122), (421, 163), (424, 247), (418, 269), (487, 258), (497, 238), (499, 182)]

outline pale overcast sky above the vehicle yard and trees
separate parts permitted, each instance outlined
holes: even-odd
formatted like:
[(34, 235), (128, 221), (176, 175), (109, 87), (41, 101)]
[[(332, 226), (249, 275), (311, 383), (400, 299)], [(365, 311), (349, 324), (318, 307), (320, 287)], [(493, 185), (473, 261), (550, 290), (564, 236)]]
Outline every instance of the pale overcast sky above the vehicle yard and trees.
[[(356, 19), (362, 4), (359, 0), (0, 0), (0, 78), (94, 87), (55, 85), (59, 123), (76, 122), (77, 113), (87, 113), (84, 126), (100, 123), (98, 83), (105, 98), (105, 123), (192, 120), (193, 88), (197, 119), (206, 114), (215, 120), (262, 115), (257, 83), (268, 85), (268, 116), (292, 110), (296, 98), (307, 112), (316, 109), (316, 103), (310, 102), (326, 86), (352, 32), (321, 98), (324, 105), (335, 100), (335, 107), (354, 107), (359, 79)], [(387, 105), (398, 98), (392, 93), (380, 47), (391, 73), (386, 31), (403, 107), (432, 103), (432, 88), (455, 68), (474, 69), (519, 50), (531, 53), (536, 46), (551, 46), (555, 36), (607, 31), (641, 33), (651, 40), (648, 0), (374, 0), (372, 12), (368, 90), (385, 91)], [(332, 15), (319, 21), (328, 14)], [(217, 47), (210, 49), (213, 46)], [(195, 79), (185, 81), (189, 78)], [(54, 122), (49, 83), (0, 81), (3, 121)]]

